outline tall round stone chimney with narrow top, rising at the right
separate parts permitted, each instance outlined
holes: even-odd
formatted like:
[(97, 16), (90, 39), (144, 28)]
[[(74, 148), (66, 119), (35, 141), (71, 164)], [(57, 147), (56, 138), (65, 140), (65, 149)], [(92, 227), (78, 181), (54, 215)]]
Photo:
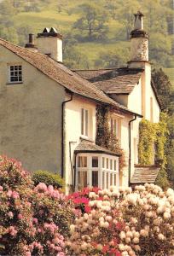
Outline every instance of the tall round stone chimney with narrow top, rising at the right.
[[(143, 30), (143, 15), (141, 12), (135, 14), (134, 30), (131, 31), (131, 61), (129, 67), (135, 66), (136, 62), (148, 61), (148, 34)], [(141, 65), (140, 65), (141, 66)]]

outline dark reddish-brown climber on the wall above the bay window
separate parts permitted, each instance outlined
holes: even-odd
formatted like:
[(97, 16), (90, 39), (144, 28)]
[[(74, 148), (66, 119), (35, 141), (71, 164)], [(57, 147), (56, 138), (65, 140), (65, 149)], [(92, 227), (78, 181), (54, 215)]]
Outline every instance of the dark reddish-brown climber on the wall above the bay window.
[(98, 105), (96, 108), (96, 144), (121, 154), (119, 157), (119, 171), (122, 172), (125, 167), (125, 153), (119, 147), (119, 140), (109, 127), (111, 112), (112, 108), (107, 106)]

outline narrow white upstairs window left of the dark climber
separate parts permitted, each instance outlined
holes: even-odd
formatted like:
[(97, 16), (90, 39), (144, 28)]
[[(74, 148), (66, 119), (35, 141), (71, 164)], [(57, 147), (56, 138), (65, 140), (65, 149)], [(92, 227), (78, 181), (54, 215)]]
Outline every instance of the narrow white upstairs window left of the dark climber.
[(81, 114), (81, 131), (80, 131), (81, 135), (83, 137), (89, 137), (90, 110), (87, 108), (81, 108), (80, 114)]

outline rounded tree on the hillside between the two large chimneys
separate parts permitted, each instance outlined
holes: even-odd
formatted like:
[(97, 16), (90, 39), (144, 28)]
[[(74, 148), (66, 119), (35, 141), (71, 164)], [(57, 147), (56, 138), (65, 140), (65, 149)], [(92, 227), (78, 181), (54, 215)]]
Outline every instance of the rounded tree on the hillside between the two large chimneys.
[(80, 18), (73, 24), (73, 27), (84, 32), (84, 37), (89, 40), (106, 38), (107, 34), (107, 13), (96, 5), (85, 3), (79, 6)]

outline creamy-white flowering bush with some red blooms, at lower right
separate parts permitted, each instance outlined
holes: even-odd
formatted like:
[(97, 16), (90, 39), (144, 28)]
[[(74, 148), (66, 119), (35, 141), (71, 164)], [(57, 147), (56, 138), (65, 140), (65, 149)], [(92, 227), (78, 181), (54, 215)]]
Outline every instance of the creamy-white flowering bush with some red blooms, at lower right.
[[(79, 194), (81, 196), (81, 194)], [(154, 184), (89, 191), (89, 211), (71, 225), (73, 255), (173, 255), (174, 191)]]

